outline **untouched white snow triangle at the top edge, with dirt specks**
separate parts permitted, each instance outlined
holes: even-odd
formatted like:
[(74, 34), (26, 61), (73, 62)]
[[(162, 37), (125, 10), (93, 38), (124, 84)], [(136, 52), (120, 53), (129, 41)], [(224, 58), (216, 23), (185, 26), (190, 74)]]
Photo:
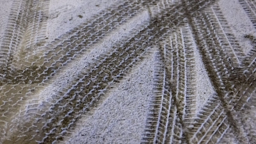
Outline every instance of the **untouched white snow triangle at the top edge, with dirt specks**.
[(60, 0), (51, 0), (49, 8), (50, 19), (48, 20), (48, 41), (51, 42), (54, 38), (86, 22), (88, 18), (112, 4), (116, 4), (118, 1), (120, 0), (72, 0), (72, 3), (70, 1), (61, 1), (60, 3)]

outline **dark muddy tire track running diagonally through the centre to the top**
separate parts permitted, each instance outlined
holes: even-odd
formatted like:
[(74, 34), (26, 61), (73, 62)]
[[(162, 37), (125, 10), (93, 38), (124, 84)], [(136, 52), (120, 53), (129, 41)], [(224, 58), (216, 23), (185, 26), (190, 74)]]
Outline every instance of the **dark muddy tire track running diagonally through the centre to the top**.
[[(190, 4), (195, 6), (192, 7), (191, 12), (193, 13), (211, 3), (208, 1), (206, 2), (207, 3), (205, 3), (205, 1), (201, 1), (198, 4), (197, 1), (192, 1)], [(96, 64), (94, 66), (95, 69), (89, 74), (86, 73), (85, 75), (82, 75), (83, 77), (76, 82), (77, 86), (75, 84), (75, 86), (72, 86), (70, 90), (66, 90), (65, 93), (67, 95), (60, 93), (60, 97), (64, 96), (63, 98), (68, 98), (68, 102), (67, 100), (61, 98), (58, 100), (60, 103), (52, 105), (51, 110), (45, 113), (45, 118), (49, 120), (42, 127), (44, 130), (44, 135), (42, 135), (45, 137), (42, 139), (42, 141), (39, 141), (50, 142), (61, 139), (61, 134), (63, 134), (66, 129), (76, 122), (76, 118), (79, 117), (79, 113), (86, 110), (86, 106), (91, 106), (95, 103), (94, 101), (97, 99), (97, 95), (100, 95), (100, 92), (104, 90), (106, 84), (108, 85), (109, 82), (115, 81), (115, 77), (118, 77), (118, 74), (122, 74), (123, 70), (126, 71), (129, 65), (131, 65), (133, 59), (137, 58), (145, 51), (145, 47), (148, 47), (148, 45), (152, 45), (158, 41), (157, 37), (167, 35), (169, 28), (173, 28), (173, 26), (177, 26), (177, 24), (182, 24), (183, 15), (180, 17), (175, 17), (176, 15), (170, 15), (169, 13), (180, 13), (184, 10), (186, 10), (186, 8), (184, 9), (182, 6), (173, 6), (173, 8), (168, 9), (167, 12), (161, 13), (163, 16), (152, 20), (149, 26), (147, 26), (147, 29), (140, 31), (138, 35), (131, 40), (128, 40), (123, 47), (116, 47), (116, 51), (113, 51), (113, 53), (111, 53), (109, 56), (105, 56), (102, 61), (99, 61), (98, 65)], [(166, 15), (168, 16), (168, 19), (166, 19)], [(159, 20), (161, 20), (161, 22), (159, 22)], [(125, 58), (127, 58), (127, 60), (125, 60)], [(123, 61), (123, 59), (125, 61)], [(122, 62), (115, 63), (116, 61)], [(111, 65), (111, 63), (113, 63), (113, 65)], [(116, 65), (118, 65), (118, 67), (116, 67)], [(112, 71), (113, 76), (109, 76), (109, 71)], [(102, 83), (104, 81), (104, 77), (98, 76), (97, 74), (104, 73), (106, 76), (109, 76), (109, 79), (106, 79), (106, 82)], [(85, 88), (83, 86), (84, 84), (88, 84), (88, 86)], [(85, 93), (88, 93), (86, 97), (84, 97)], [(56, 95), (56, 97), (58, 98), (58, 95)], [(81, 100), (80, 105), (76, 104), (77, 100)], [(67, 104), (68, 108), (61, 108), (61, 106), (65, 106), (65, 104)], [(57, 109), (59, 109), (61, 113), (56, 113)], [(59, 122), (61, 118), (63, 119)], [(40, 126), (40, 124), (38, 125)], [(34, 125), (33, 127), (36, 126)], [(35, 140), (38, 139), (35, 138)]]

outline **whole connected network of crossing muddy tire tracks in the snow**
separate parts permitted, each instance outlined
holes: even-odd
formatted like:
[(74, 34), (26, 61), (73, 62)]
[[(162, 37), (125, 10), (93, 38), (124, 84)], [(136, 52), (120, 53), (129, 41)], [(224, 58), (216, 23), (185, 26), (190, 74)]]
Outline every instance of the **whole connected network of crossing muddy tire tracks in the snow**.
[[(255, 26), (256, 3), (237, 1)], [(127, 0), (44, 44), (48, 8), (49, 0), (13, 2), (0, 49), (1, 142), (63, 140), (79, 118), (97, 108), (111, 86), (143, 60), (151, 47), (157, 47), (154, 95), (141, 143), (255, 141), (254, 119), (250, 118), (255, 110), (255, 49), (244, 54), (218, 3)], [(36, 90), (44, 89), (61, 70), (145, 10), (150, 15), (148, 22), (134, 26), (131, 35), (90, 61), (89, 67), (44, 104), (36, 104), (35, 99), (35, 104), (22, 109)], [(44, 49), (38, 50), (41, 47)], [(35, 51), (24, 54), (26, 49)], [(199, 110), (195, 49), (216, 91)], [(22, 124), (15, 124), (17, 115), (24, 120)]]

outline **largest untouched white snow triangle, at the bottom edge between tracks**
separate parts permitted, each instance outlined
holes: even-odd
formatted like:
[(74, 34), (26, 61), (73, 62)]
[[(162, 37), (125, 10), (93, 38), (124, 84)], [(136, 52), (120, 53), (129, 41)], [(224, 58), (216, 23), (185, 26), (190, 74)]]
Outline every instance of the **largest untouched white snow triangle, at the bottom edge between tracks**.
[(152, 94), (153, 56), (109, 92), (92, 116), (81, 120), (67, 143), (140, 143)]

